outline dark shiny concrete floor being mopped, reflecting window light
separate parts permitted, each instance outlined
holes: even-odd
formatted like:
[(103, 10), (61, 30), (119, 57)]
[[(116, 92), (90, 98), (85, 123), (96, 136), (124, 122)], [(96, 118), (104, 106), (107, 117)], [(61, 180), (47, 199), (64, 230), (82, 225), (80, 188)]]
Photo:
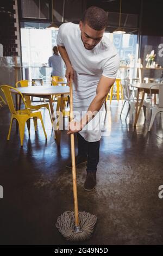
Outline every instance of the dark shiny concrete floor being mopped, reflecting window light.
[[(150, 133), (141, 113), (136, 129), (120, 119), (122, 103), (108, 105), (107, 137), (101, 140), (97, 187), (84, 191), (85, 165), (77, 168), (79, 210), (96, 214), (98, 222), (83, 245), (159, 245), (163, 243), (162, 115)], [(62, 132), (61, 148), (54, 141), (49, 117), (42, 111), (48, 135), (42, 128), (25, 132), (23, 148), (12, 127), (7, 142), (10, 114), (0, 109), (1, 245), (69, 245), (55, 228), (62, 212), (73, 211), (72, 175), (65, 168), (70, 157), (70, 138)]]

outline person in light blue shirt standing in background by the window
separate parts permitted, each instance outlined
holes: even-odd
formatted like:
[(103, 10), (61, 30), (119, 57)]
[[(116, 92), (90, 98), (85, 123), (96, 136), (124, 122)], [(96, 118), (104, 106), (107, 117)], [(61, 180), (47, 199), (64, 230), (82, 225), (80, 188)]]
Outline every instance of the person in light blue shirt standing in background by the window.
[(59, 55), (57, 46), (53, 47), (53, 55), (51, 57), (49, 57), (48, 63), (49, 63), (49, 66), (52, 67), (51, 76), (63, 77), (64, 63), (62, 61), (61, 56)]

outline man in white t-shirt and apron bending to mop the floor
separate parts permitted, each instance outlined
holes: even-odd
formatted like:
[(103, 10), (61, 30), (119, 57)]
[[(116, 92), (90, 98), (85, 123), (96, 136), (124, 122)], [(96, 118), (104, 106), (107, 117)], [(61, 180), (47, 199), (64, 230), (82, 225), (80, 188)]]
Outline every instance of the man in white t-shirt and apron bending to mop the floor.
[[(99, 115), (103, 103), (115, 82), (119, 57), (115, 47), (104, 35), (108, 17), (98, 7), (88, 8), (79, 25), (71, 22), (60, 26), (57, 44), (66, 64), (68, 83), (73, 80), (73, 111), (68, 135), (77, 133), (78, 155), (76, 166), (87, 162), (84, 188), (96, 186), (99, 162)], [(71, 162), (67, 164), (71, 168)]]

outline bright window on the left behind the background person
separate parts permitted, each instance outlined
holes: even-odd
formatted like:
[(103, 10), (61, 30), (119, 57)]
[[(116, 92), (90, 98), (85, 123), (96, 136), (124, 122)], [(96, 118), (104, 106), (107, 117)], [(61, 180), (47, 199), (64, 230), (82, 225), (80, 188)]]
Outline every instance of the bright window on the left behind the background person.
[(44, 29), (46, 26), (47, 23), (21, 22), (23, 79), (42, 78), (43, 84), (50, 83), (52, 68), (48, 67), (48, 58), (57, 45), (58, 34)]

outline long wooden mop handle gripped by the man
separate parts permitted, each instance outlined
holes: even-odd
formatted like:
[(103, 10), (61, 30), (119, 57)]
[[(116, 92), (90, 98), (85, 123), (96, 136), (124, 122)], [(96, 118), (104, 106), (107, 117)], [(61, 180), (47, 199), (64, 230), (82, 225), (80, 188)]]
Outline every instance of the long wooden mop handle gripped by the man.
[[(70, 121), (72, 121), (72, 120), (73, 120), (73, 94), (72, 94), (72, 81), (70, 81)], [(71, 136), (71, 161), (72, 161), (74, 216), (75, 216), (75, 225), (76, 225), (76, 227), (79, 227), (76, 159), (75, 159), (75, 150), (74, 150), (74, 133), (71, 133), (70, 136)]]

